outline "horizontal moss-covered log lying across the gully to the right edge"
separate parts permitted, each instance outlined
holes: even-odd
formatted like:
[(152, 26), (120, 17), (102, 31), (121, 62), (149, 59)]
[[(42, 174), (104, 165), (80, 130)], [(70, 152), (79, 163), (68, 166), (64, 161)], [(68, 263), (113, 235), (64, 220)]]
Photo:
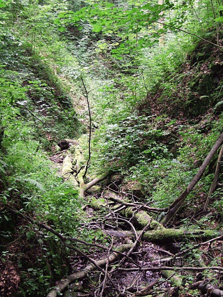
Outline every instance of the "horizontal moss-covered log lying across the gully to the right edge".
[[(132, 231), (114, 231), (106, 230), (103, 231), (107, 235), (117, 236), (117, 237), (134, 237)], [(178, 240), (207, 240), (215, 238), (216, 236), (221, 236), (223, 231), (219, 230), (194, 230), (185, 231), (182, 229), (161, 229), (161, 230), (151, 230), (146, 231), (142, 235), (142, 239), (153, 243), (171, 243)]]

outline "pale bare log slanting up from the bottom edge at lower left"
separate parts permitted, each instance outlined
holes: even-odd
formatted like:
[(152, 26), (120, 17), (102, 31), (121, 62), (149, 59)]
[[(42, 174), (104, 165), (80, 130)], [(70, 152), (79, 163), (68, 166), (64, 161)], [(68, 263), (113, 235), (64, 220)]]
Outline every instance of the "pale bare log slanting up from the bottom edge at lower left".
[[(132, 244), (122, 244), (118, 246), (116, 249), (119, 252), (124, 252), (125, 250), (130, 249), (131, 246)], [(120, 259), (120, 254), (114, 252), (113, 254), (109, 255), (108, 262), (109, 264), (111, 264), (117, 259)], [(96, 261), (95, 263), (99, 267), (104, 267), (106, 265), (106, 261), (107, 261), (107, 258), (104, 258)], [(57, 297), (58, 294), (63, 293), (66, 290), (68, 285), (73, 284), (76, 280), (80, 281), (82, 279), (85, 279), (87, 277), (87, 274), (91, 271), (94, 271), (95, 269), (96, 269), (95, 265), (90, 264), (86, 266), (83, 270), (67, 276), (66, 279), (63, 279), (62, 281), (60, 281), (59, 284), (48, 293), (47, 297)]]

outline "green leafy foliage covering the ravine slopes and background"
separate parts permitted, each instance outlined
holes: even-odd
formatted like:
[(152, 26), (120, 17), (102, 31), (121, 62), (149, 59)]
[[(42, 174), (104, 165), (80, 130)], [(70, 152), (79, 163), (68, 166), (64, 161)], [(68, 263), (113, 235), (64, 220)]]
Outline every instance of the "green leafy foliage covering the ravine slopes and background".
[[(102, 234), (82, 227), (81, 221), (89, 220), (82, 201), (46, 154), (57, 140), (87, 133), (82, 76), (93, 122), (89, 172), (114, 168), (127, 183), (144, 185), (151, 206), (169, 206), (222, 131), (221, 58), (207, 43), (197, 44), (194, 35), (216, 42), (209, 28), (221, 22), (222, 7), (214, 2), (214, 9), (215, 20), (209, 0), (164, 1), (162, 6), (142, 0), (0, 0), (2, 205), (16, 206), (63, 234), (90, 242), (96, 236), (106, 243)], [(161, 11), (164, 26), (157, 23)], [(158, 46), (162, 34), (165, 46)], [(88, 136), (83, 138), (87, 159)], [(189, 207), (207, 195), (212, 178), (210, 166), (187, 198)], [(221, 194), (213, 194), (219, 213)], [(10, 242), (15, 226), (5, 210), (0, 223), (10, 226), (7, 234), (1, 232)], [(62, 260), (69, 251), (37, 225), (17, 227), (25, 249), (35, 250), (31, 261), (26, 250), (13, 258), (21, 270), (21, 294), (44, 296), (46, 287), (67, 274)], [(191, 255), (192, 264), (198, 254)], [(7, 256), (4, 250), (2, 259)]]

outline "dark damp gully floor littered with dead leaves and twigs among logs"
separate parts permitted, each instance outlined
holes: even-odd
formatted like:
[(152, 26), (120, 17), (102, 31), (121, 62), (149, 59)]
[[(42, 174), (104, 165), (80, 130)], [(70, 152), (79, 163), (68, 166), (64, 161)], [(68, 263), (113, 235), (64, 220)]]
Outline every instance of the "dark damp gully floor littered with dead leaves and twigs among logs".
[[(50, 159), (55, 163), (57, 168), (60, 168), (63, 160), (65, 159), (67, 151), (61, 154), (54, 154)], [(78, 168), (77, 168), (78, 169)], [(68, 170), (68, 169), (67, 169)], [(68, 178), (69, 179), (69, 178)], [(182, 238), (179, 241), (177, 238), (170, 239), (169, 237), (164, 238), (164, 240), (158, 239), (157, 243), (148, 242), (149, 240), (144, 234), (147, 230), (153, 229), (154, 231), (159, 230), (161, 225), (158, 223), (155, 228), (151, 228), (150, 224), (153, 220), (149, 215), (144, 217), (144, 221), (137, 218), (135, 214), (140, 211), (146, 203), (143, 202), (143, 194), (135, 196), (132, 191), (125, 185), (125, 192), (123, 192), (122, 187), (122, 177), (115, 176), (113, 181), (106, 181), (102, 183), (97, 183), (100, 189), (95, 189), (92, 191), (86, 191), (84, 197), (84, 205), (82, 208), (85, 212), (86, 218), (89, 220), (83, 224), (89, 230), (95, 230), (96, 233), (100, 232), (103, 236), (109, 235), (110, 249), (129, 243), (133, 239), (133, 234), (128, 233), (129, 230), (134, 230), (137, 235), (140, 234), (139, 238), (135, 238), (137, 241), (137, 249), (131, 251), (130, 258), (123, 260), (114, 261), (111, 266), (106, 265), (106, 280), (104, 282), (104, 276), (102, 271), (95, 271), (94, 273), (88, 274), (87, 278), (81, 281), (74, 282), (68, 285), (68, 290), (65, 292), (64, 296), (74, 297), (74, 296), (194, 296), (193, 290), (196, 289), (199, 284), (204, 287), (204, 281), (207, 279), (202, 276), (201, 273), (197, 274), (199, 268), (194, 268), (194, 271), (190, 272), (188, 275), (187, 271), (175, 271), (175, 267), (184, 267), (194, 265), (193, 260), (188, 258), (188, 255), (183, 251), (183, 241)], [(93, 186), (94, 188), (95, 186)], [(90, 188), (91, 189), (91, 188)], [(90, 190), (89, 189), (89, 190)], [(139, 194), (140, 190), (138, 190)], [(136, 193), (136, 191), (135, 191)], [(141, 197), (140, 197), (141, 196)], [(117, 212), (121, 208), (121, 204), (117, 205), (115, 201), (128, 201), (128, 203), (135, 203), (137, 206), (133, 207), (133, 213), (131, 217), (126, 217), (126, 214), (122, 212)], [(126, 208), (127, 206), (125, 206)], [(146, 216), (146, 213), (144, 213)], [(131, 223), (133, 225), (131, 225)], [(174, 225), (174, 224), (173, 224)], [(183, 226), (181, 226), (182, 228)], [(216, 228), (217, 222), (212, 226), (205, 225), (206, 228)], [(167, 230), (167, 229), (166, 229)], [(127, 231), (127, 232), (126, 232)], [(202, 233), (202, 230), (199, 231)], [(106, 235), (105, 235), (106, 234)], [(210, 239), (208, 236), (200, 236), (194, 234), (194, 238), (185, 239), (191, 243), (192, 247), (189, 248), (191, 251), (193, 248), (199, 249), (202, 253), (202, 257), (199, 258), (200, 268), (208, 266), (210, 262), (210, 257), (216, 257), (216, 255), (221, 255), (222, 250), (222, 233), (218, 231), (220, 237), (214, 238), (211, 235), (210, 238), (204, 245), (198, 244), (194, 245), (194, 240), (196, 238), (202, 239), (202, 241)], [(144, 239), (144, 240), (143, 240)], [(133, 242), (131, 241), (131, 244)], [(104, 246), (106, 247), (106, 246)], [(89, 247), (86, 255), (78, 255), (76, 252), (70, 253), (70, 260), (72, 266), (72, 275), (85, 269), (86, 265), (89, 263), (89, 258), (93, 261), (100, 261), (103, 258), (109, 258), (110, 249), (107, 251), (102, 251), (100, 248)], [(194, 249), (195, 251), (195, 249)], [(188, 251), (189, 252), (189, 251)], [(127, 253), (128, 255), (128, 253)], [(88, 258), (89, 257), (89, 258)], [(222, 263), (223, 264), (223, 263)], [(144, 267), (149, 268), (159, 268), (159, 267), (172, 267), (170, 271), (140, 271)], [(130, 271), (122, 271), (122, 269), (127, 268)], [(137, 270), (138, 268), (138, 270)], [(131, 269), (133, 271), (131, 271)], [(165, 268), (164, 268), (165, 269)], [(97, 269), (96, 269), (97, 270)], [(216, 273), (216, 279), (218, 279), (218, 285), (216, 287), (222, 287), (223, 273), (217, 269), (214, 270)], [(168, 273), (167, 273), (168, 272)], [(109, 278), (109, 279), (107, 279)], [(191, 281), (193, 280), (193, 281)], [(197, 287), (193, 287), (193, 284), (197, 284)], [(60, 285), (58, 282), (57, 285)], [(104, 284), (104, 285), (103, 285)], [(211, 290), (216, 289), (216, 287), (211, 287)], [(220, 289), (216, 294), (222, 294), (223, 291)], [(141, 291), (142, 290), (142, 291)], [(210, 291), (210, 290), (209, 290)], [(202, 291), (205, 291), (203, 289)], [(197, 294), (197, 293), (196, 293)], [(50, 293), (48, 296), (51, 296)], [(53, 296), (53, 295), (52, 295)], [(212, 292), (210, 296), (214, 295)], [(218, 295), (222, 296), (222, 295)]]

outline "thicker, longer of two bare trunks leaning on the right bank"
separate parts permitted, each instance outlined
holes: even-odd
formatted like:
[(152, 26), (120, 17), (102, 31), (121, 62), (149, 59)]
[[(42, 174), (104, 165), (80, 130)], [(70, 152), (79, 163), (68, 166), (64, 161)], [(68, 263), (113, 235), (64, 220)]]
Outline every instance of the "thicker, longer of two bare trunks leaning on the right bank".
[(192, 191), (194, 186), (197, 184), (197, 182), (202, 177), (203, 173), (205, 172), (205, 169), (207, 168), (208, 164), (211, 162), (211, 159), (216, 154), (219, 147), (222, 145), (223, 142), (223, 132), (219, 136), (219, 138), (216, 140), (216, 143), (213, 145), (212, 149), (208, 153), (207, 157), (205, 158), (204, 162), (200, 166), (199, 170), (197, 171), (196, 175), (192, 179), (192, 181), (189, 183), (189, 185), (186, 187), (186, 189), (183, 191), (183, 193), (171, 204), (169, 207), (169, 210), (162, 220), (164, 225), (167, 225), (169, 221), (175, 216), (175, 214), (178, 212), (180, 207), (182, 206), (184, 200), (186, 199), (187, 195)]

